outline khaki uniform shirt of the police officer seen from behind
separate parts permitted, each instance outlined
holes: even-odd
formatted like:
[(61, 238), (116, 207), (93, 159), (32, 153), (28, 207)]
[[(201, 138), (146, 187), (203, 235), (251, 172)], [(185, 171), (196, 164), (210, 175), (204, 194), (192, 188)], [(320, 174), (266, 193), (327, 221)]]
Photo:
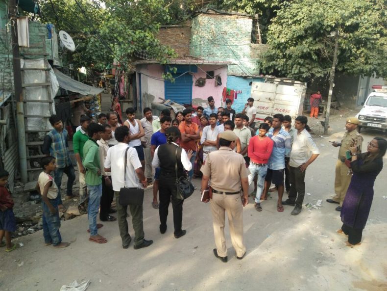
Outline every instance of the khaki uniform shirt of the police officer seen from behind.
[(208, 154), (200, 171), (204, 176), (211, 177), (213, 189), (222, 192), (240, 191), (241, 179), (248, 176), (242, 155), (234, 153), (229, 147), (220, 147)]

